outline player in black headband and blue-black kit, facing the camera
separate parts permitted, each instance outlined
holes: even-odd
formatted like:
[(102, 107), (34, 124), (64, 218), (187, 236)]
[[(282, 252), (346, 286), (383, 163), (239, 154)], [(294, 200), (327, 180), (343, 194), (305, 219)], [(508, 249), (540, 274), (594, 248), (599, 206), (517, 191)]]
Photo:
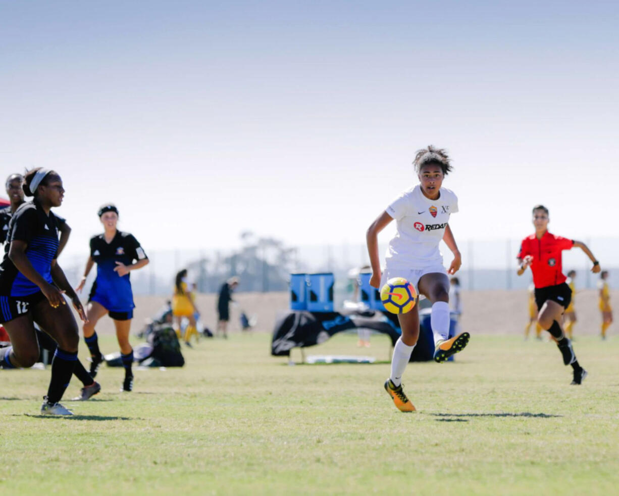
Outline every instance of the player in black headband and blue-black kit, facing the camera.
[(90, 290), (86, 307), (88, 321), (84, 322), (83, 327), (84, 340), (92, 356), (90, 374), (94, 377), (103, 361), (95, 325), (101, 317), (108, 314), (114, 320), (125, 371), (121, 391), (131, 391), (133, 348), (129, 343), (129, 331), (136, 305), (133, 303), (129, 272), (144, 267), (149, 263), (149, 259), (132, 234), (116, 229), (118, 208), (115, 205), (103, 205), (98, 216), (105, 231), (90, 239), (90, 256), (86, 262), (84, 277), (77, 286), (77, 291), (82, 291), (93, 264), (97, 263), (97, 278)]

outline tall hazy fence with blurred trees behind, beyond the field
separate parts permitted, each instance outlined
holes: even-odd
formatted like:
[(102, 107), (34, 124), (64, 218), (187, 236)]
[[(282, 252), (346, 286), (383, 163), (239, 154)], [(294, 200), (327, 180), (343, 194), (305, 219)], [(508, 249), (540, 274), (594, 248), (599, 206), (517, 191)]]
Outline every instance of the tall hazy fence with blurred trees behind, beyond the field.
[[(583, 239), (610, 272), (610, 283), (619, 278), (619, 238)], [(509, 290), (526, 288), (531, 275), (527, 271), (516, 275), (516, 255), (520, 240), (460, 242), (462, 267), (457, 273), (461, 286), (467, 290)], [(383, 256), (386, 250), (381, 245)], [(147, 250), (150, 263), (131, 274), (136, 294), (170, 294), (176, 272), (187, 268), (189, 279), (201, 293), (214, 293), (223, 281), (236, 275), (241, 278), (238, 291), (286, 291), (291, 272), (333, 272), (336, 292), (348, 285), (348, 271), (368, 263), (365, 244), (286, 247), (272, 239), (262, 239), (229, 250)], [(451, 252), (441, 246), (446, 266)], [(70, 281), (78, 281), (84, 270), (85, 258), (68, 257), (61, 265)], [(592, 274), (591, 262), (579, 249), (563, 252), (563, 271), (576, 270), (576, 287), (593, 288), (598, 275)], [(90, 275), (90, 280), (94, 277)], [(89, 281), (90, 282), (90, 281)], [(88, 286), (89, 287), (89, 286)]]

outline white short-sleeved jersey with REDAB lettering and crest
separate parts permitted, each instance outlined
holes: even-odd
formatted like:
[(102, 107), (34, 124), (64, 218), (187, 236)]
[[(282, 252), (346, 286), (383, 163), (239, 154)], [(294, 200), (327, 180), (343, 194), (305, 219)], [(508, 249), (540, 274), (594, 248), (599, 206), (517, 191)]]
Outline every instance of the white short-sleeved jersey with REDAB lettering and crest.
[(430, 200), (417, 185), (387, 207), (386, 212), (397, 221), (397, 234), (387, 248), (387, 268), (421, 269), (443, 264), (438, 244), (443, 239), (449, 215), (458, 211), (458, 199), (447, 188), (439, 192), (438, 200)]

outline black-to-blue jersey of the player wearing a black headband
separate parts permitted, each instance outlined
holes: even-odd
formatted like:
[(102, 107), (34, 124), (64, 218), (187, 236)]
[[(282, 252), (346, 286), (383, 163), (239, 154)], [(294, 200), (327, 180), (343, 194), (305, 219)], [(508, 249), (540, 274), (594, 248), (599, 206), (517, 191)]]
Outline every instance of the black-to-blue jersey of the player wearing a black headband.
[[(97, 263), (97, 278), (90, 290), (90, 298), (95, 295), (106, 296), (110, 305), (115, 308), (133, 308), (133, 293), (129, 274), (119, 277), (114, 269), (116, 262), (131, 265), (134, 260), (144, 260), (148, 257), (137, 239), (129, 232), (116, 231), (111, 242), (105, 241), (105, 235), (99, 234), (90, 239), (90, 257)], [(128, 306), (128, 303), (131, 305)]]

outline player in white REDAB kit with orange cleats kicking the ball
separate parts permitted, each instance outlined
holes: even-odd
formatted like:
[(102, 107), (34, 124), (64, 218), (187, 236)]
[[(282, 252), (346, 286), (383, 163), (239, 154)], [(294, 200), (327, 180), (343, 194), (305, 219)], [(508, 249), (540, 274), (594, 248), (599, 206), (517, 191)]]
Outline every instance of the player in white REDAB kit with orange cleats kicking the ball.
[[(443, 149), (433, 146), (417, 151), (415, 172), (420, 184), (405, 191), (371, 224), (366, 234), (372, 277), (370, 285), (381, 288), (392, 277), (404, 277), (432, 303), (430, 324), (434, 334), (434, 360), (441, 363), (464, 349), (469, 333), (447, 339), (449, 334), (449, 279), (462, 265), (456, 240), (449, 228), (449, 216), (458, 211), (458, 200), (451, 190), (441, 187), (451, 171), (449, 157)], [(389, 242), (386, 269), (381, 273), (378, 254), (378, 233), (393, 219), (397, 234)], [(449, 270), (443, 267), (438, 244), (443, 239), (454, 255)], [(402, 391), (402, 374), (419, 337), (418, 306), (398, 319), (402, 335), (396, 342), (391, 361), (391, 377), (385, 389), (402, 412), (415, 410)]]

